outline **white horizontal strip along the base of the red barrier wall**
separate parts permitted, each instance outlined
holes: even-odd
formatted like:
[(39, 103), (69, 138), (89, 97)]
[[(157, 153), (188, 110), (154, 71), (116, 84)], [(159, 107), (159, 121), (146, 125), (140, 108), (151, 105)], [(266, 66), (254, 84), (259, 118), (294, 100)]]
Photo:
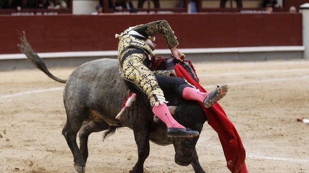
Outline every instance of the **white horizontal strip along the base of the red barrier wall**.
[[(283, 52), (305, 51), (305, 46), (260, 46), (260, 47), (219, 47), (219, 48), (183, 48), (179, 49), (184, 54), (189, 53), (246, 53), (246, 52)], [(170, 54), (169, 49), (156, 49), (155, 54)], [(49, 52), (37, 53), (41, 58), (64, 58), (64, 57), (97, 57), (117, 56), (117, 50), (109, 51), (77, 51), (77, 52)], [(26, 59), (22, 53), (0, 54), (0, 60)]]

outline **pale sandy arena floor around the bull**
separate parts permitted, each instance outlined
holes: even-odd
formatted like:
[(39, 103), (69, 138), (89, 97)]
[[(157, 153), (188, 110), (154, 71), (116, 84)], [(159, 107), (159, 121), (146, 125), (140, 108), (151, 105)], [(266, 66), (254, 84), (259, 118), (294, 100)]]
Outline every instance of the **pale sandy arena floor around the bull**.
[[(202, 86), (229, 84), (219, 101), (247, 152), (250, 173), (309, 173), (309, 61), (195, 62)], [(48, 66), (48, 64), (47, 64)], [(51, 68), (66, 79), (73, 68)], [(0, 72), (0, 173), (75, 173), (61, 134), (64, 84), (38, 69)], [(133, 131), (89, 138), (87, 173), (128, 173), (137, 161)], [(217, 134), (205, 123), (197, 143), (207, 173), (229, 173)], [(173, 146), (151, 143), (145, 173), (193, 173), (174, 163)]]

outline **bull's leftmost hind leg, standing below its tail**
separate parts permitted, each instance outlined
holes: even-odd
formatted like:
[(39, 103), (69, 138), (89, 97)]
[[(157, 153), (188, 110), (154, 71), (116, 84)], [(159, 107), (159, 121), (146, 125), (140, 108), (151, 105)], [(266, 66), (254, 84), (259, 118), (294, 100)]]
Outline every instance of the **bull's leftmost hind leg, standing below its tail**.
[(84, 111), (74, 111), (74, 113), (69, 114), (67, 111), (67, 122), (62, 130), (62, 135), (64, 136), (69, 148), (74, 157), (74, 168), (78, 173), (85, 173), (86, 172), (86, 162), (82, 155), (82, 152), (79, 150), (77, 143), (76, 143), (76, 136), (80, 128), (83, 124), (82, 117), (79, 115), (85, 115)]

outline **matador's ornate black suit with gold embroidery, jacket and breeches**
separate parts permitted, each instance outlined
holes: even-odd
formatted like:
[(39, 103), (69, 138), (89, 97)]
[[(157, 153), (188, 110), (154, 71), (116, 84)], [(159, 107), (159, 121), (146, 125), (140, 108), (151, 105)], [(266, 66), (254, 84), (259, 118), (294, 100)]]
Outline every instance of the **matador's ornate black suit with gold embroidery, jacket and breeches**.
[(127, 84), (133, 84), (135, 89), (146, 94), (151, 106), (166, 103), (154, 74), (169, 76), (171, 72), (171, 70), (153, 72), (149, 69), (150, 55), (154, 55), (154, 52), (145, 41), (155, 34), (161, 34), (169, 48), (178, 44), (166, 20), (130, 27), (120, 34), (118, 44), (118, 66), (121, 76)]

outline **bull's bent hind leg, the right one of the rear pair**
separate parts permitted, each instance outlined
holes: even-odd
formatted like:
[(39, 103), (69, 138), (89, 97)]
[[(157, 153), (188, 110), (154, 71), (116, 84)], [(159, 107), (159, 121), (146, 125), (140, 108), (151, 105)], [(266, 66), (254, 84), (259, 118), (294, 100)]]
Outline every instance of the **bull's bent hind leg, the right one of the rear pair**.
[(103, 130), (107, 130), (109, 128), (109, 125), (105, 121), (100, 122), (94, 122), (89, 121), (87, 123), (84, 123), (82, 128), (80, 129), (78, 135), (79, 135), (79, 148), (82, 152), (82, 155), (84, 157), (85, 163), (87, 162), (88, 158), (88, 137), (93, 132), (101, 132)]

